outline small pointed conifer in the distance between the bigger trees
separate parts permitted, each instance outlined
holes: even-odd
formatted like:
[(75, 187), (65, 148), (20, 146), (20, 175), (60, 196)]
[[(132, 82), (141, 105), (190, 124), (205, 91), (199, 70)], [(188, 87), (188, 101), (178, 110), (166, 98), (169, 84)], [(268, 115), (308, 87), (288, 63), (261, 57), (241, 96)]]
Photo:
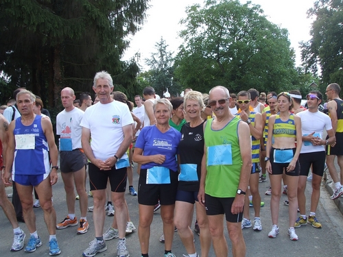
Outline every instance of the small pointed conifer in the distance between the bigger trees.
[(163, 97), (163, 92), (168, 88), (171, 95), (180, 93), (180, 85), (174, 82), (174, 58), (173, 53), (167, 51), (168, 45), (161, 38), (156, 42), (156, 52), (152, 53), (151, 58), (145, 59), (145, 64), (150, 66), (148, 73), (143, 73), (147, 82), (150, 82), (156, 93)]

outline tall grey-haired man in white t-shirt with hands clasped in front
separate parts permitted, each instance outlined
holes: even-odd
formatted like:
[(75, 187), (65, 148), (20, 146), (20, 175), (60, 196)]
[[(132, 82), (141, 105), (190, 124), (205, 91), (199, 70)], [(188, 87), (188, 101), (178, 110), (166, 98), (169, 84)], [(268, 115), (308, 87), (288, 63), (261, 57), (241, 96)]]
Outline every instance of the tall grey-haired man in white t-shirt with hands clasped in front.
[(130, 165), (126, 150), (132, 143), (133, 119), (128, 105), (114, 101), (110, 96), (113, 92), (113, 79), (106, 71), (95, 74), (93, 90), (99, 97), (99, 103), (86, 109), (81, 126), (82, 148), (91, 161), (88, 164), (88, 175), (94, 199), (95, 239), (84, 250), (83, 256), (94, 256), (107, 249), (103, 232), (108, 180), (119, 230), (117, 256), (130, 256), (125, 238), (128, 213), (124, 193), (126, 167)]

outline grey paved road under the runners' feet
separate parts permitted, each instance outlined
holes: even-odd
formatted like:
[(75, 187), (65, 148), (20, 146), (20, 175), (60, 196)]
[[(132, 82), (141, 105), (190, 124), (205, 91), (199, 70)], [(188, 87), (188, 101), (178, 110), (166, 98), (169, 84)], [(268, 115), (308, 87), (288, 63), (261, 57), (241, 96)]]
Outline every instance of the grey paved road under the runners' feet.
[[(138, 175), (137, 173), (134, 173), (134, 185), (137, 185), (137, 182)], [(319, 221), (322, 223), (323, 228), (316, 229), (311, 227), (311, 225), (306, 225), (296, 229), (296, 233), (299, 236), (299, 241), (290, 241), (289, 237), (287, 236), (288, 207), (282, 204), (283, 201), (287, 199), (287, 196), (285, 195), (281, 197), (279, 218), (280, 234), (277, 236), (277, 238), (268, 238), (267, 235), (272, 225), (270, 218), (270, 196), (264, 195), (265, 191), (268, 189), (268, 186), (269, 182), (260, 184), (261, 197), (262, 200), (265, 201), (265, 206), (261, 208), (261, 221), (263, 224), (263, 230), (261, 232), (255, 232), (252, 230), (252, 228), (244, 229), (244, 238), (247, 245), (246, 256), (343, 256), (343, 216), (338, 211), (338, 208), (335, 206), (335, 204), (333, 204), (333, 201), (329, 199), (329, 193), (327, 193), (327, 191), (324, 189), (324, 186), (322, 186), (320, 204), (318, 206), (316, 215)], [(307, 182), (307, 186), (310, 186), (310, 182)], [(56, 208), (57, 219), (58, 221), (62, 221), (62, 219), (64, 219), (64, 217), (67, 215), (67, 206), (65, 204), (65, 194), (60, 174), (58, 183), (54, 186), (53, 190), (54, 207)], [(6, 191), (10, 193), (11, 188), (6, 188)], [(309, 194), (310, 191), (309, 188), (307, 188), (307, 199), (309, 199)], [(93, 199), (89, 197), (88, 200), (88, 204), (90, 206), (93, 205)], [(139, 212), (137, 197), (132, 197), (127, 193), (126, 201), (128, 202), (128, 208), (130, 210), (130, 217), (134, 222), (134, 225), (138, 227)], [(307, 202), (307, 210), (309, 210), (309, 202)], [(36, 208), (34, 212), (36, 213), (38, 234), (42, 238), (43, 245), (39, 247), (36, 252), (27, 254), (23, 252), (23, 250), (20, 252), (10, 252), (10, 246), (12, 244), (12, 227), (10, 226), (8, 219), (6, 219), (2, 209), (0, 210), (0, 256), (49, 256), (47, 246), (49, 236), (43, 220), (43, 210), (41, 210), (41, 208)], [(250, 208), (250, 213), (252, 214), (252, 208)], [(78, 218), (80, 218), (79, 210), (77, 210), (76, 215)], [(106, 216), (106, 228), (108, 228), (112, 222), (112, 219), (113, 217)], [(82, 251), (88, 247), (88, 243), (94, 238), (93, 217), (91, 212), (88, 212), (88, 221), (91, 223), (91, 228), (86, 234), (83, 235), (76, 234), (76, 227), (57, 231), (58, 243), (62, 251), (60, 256), (82, 256)], [(27, 243), (29, 232), (23, 223), (20, 223), (20, 225), (27, 234), (25, 239), (25, 243)], [(160, 238), (161, 234), (162, 221), (158, 210), (154, 214), (154, 221), (151, 228), (149, 254), (152, 257), (163, 256), (164, 246), (158, 241), (158, 238)], [(196, 235), (195, 238), (196, 249), (198, 249), (198, 252), (200, 252), (199, 237)], [(228, 240), (227, 232), (226, 238)], [(137, 232), (130, 234), (127, 237), (127, 241), (130, 256), (141, 256)], [(116, 244), (117, 239), (108, 241), (108, 250), (102, 254), (97, 254), (97, 256), (114, 256), (116, 252)], [(230, 247), (230, 243), (228, 244)], [(182, 256), (182, 254), (186, 254), (185, 247), (183, 247), (177, 233), (174, 235), (172, 251), (178, 257)], [(213, 249), (211, 249), (210, 256), (215, 256)], [(232, 254), (230, 253), (229, 256), (232, 256)]]

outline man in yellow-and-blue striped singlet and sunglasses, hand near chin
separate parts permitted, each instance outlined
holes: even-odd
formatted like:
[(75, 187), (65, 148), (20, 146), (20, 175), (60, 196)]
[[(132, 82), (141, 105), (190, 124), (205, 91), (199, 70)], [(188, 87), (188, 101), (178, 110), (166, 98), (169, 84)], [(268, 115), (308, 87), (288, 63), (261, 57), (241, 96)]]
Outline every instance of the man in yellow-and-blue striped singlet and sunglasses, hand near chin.
[[(250, 171), (249, 186), (250, 193), (252, 195), (252, 205), (255, 210), (254, 219), (254, 230), (261, 231), (262, 224), (260, 219), (260, 209), (261, 209), (261, 196), (259, 195), (259, 173), (261, 171), (261, 166), (259, 164), (259, 145), (260, 138), (262, 136), (262, 115), (259, 112), (250, 112), (250, 93), (247, 91), (241, 91), (237, 95), (238, 106), (241, 112), (239, 112), (239, 117), (242, 121), (249, 125), (250, 136), (251, 136), (251, 154), (252, 154), (252, 167)], [(250, 195), (250, 194), (248, 194)], [(244, 201), (244, 218), (241, 222), (241, 228), (251, 228), (251, 220), (249, 213), (249, 198), (246, 195), (246, 200)]]

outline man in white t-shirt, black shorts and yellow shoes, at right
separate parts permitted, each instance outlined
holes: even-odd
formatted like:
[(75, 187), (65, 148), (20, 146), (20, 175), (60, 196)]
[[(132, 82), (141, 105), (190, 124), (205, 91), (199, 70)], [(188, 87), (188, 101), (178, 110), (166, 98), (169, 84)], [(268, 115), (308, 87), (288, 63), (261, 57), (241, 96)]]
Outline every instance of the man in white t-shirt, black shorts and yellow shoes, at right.
[[(324, 173), (325, 165), (325, 145), (335, 142), (330, 118), (318, 110), (322, 102), (322, 94), (319, 91), (311, 91), (307, 96), (308, 110), (299, 112), (297, 115), (301, 119), (301, 132), (303, 135), (303, 145), (300, 150), (300, 176), (298, 181), (298, 206), (300, 217), (296, 220), (294, 228), (300, 228), (307, 223), (314, 228), (322, 228), (322, 224), (316, 219), (316, 210), (320, 197), (320, 183)], [(316, 122), (314, 122), (316, 121)], [(322, 138), (323, 131), (327, 130), (329, 139)], [(309, 217), (306, 217), (306, 197), (305, 188), (309, 168), (311, 167), (312, 195)]]

